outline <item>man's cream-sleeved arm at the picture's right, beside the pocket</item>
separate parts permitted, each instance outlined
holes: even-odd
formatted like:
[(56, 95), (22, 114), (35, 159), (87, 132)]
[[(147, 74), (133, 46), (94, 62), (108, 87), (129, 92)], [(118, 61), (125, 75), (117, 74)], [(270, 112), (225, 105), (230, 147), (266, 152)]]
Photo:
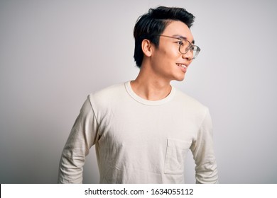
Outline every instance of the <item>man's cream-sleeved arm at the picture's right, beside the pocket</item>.
[(199, 128), (196, 139), (192, 142), (191, 151), (195, 160), (196, 183), (217, 183), (217, 163), (214, 157), (212, 141), (212, 120), (207, 110)]

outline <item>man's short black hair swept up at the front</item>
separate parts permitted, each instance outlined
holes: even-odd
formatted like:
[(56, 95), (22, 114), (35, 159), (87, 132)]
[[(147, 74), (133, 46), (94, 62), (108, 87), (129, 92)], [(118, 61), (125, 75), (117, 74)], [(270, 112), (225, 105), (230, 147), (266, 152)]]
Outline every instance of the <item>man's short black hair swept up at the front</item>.
[(170, 21), (182, 21), (188, 28), (192, 26), (195, 16), (189, 13), (185, 8), (165, 7), (150, 8), (148, 13), (143, 14), (136, 21), (134, 27), (135, 50), (134, 59), (136, 66), (141, 67), (143, 60), (143, 51), (141, 42), (148, 39), (158, 47), (159, 36), (165, 30)]

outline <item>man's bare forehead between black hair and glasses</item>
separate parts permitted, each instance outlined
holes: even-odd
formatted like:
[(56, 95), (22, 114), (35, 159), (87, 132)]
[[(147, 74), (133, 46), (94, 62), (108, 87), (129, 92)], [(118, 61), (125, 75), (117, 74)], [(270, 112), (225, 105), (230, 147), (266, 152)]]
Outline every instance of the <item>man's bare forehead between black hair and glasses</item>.
[(186, 37), (189, 41), (193, 40), (190, 28), (188, 28), (188, 25), (185, 25), (182, 21), (171, 21), (163, 31), (163, 35), (180, 35)]

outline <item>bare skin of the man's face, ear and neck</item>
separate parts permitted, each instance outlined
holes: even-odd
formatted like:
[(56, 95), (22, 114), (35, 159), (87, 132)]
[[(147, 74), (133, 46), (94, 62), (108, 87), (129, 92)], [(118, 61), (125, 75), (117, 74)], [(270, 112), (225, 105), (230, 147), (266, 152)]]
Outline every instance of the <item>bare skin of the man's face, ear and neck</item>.
[[(170, 22), (161, 35), (182, 36), (194, 42), (190, 28), (181, 21)], [(143, 40), (141, 47), (143, 62), (139, 75), (131, 81), (131, 88), (146, 100), (161, 100), (171, 91), (170, 81), (183, 81), (193, 55), (190, 51), (181, 54), (178, 40), (170, 37), (160, 37), (158, 47), (149, 40)], [(178, 64), (185, 64), (186, 69)]]

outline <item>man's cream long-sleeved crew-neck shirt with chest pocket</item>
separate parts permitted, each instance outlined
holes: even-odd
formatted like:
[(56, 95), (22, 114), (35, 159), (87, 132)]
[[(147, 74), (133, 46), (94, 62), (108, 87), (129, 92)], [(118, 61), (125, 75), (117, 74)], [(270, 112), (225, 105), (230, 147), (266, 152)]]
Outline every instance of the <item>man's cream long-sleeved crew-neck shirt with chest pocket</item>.
[(192, 151), (197, 183), (217, 183), (207, 107), (177, 88), (163, 100), (140, 98), (130, 81), (90, 94), (60, 159), (59, 183), (82, 183), (95, 145), (100, 183), (185, 183)]

